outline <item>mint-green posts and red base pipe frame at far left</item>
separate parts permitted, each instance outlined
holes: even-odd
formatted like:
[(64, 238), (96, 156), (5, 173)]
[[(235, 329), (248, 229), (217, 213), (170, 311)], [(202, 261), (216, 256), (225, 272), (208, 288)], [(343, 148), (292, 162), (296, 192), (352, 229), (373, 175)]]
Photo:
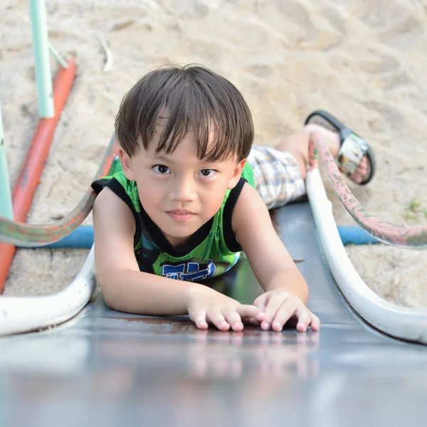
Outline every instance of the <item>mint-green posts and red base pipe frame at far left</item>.
[[(36, 58), (38, 108), (41, 119), (38, 121), (36, 132), (12, 194), (7, 173), (6, 149), (4, 148), (3, 126), (0, 117), (0, 216), (19, 222), (26, 220), (31, 200), (43, 171), (43, 165), (48, 156), (56, 124), (73, 85), (76, 70), (74, 61), (63, 60), (48, 42), (44, 1), (31, 0), (30, 11), (34, 56)], [(49, 50), (53, 52), (61, 65), (53, 85), (48, 58)], [(15, 251), (15, 246), (0, 243), (0, 293), (3, 290)]]

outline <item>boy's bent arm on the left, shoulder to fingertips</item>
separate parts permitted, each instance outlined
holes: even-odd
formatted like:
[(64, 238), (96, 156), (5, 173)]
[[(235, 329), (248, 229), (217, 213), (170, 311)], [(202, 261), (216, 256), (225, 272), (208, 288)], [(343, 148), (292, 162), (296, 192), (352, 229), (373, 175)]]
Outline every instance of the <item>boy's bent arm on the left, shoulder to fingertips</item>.
[(144, 315), (189, 314), (201, 329), (211, 322), (221, 330), (239, 330), (241, 317), (263, 318), (258, 308), (241, 305), (204, 285), (139, 271), (133, 250), (135, 218), (108, 188), (95, 200), (93, 228), (97, 278), (112, 309)]

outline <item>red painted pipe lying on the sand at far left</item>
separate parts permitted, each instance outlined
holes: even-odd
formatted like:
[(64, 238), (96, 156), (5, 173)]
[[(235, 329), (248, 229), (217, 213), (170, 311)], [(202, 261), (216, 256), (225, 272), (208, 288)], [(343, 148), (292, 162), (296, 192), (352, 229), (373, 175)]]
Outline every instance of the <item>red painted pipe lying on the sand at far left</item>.
[[(31, 146), (28, 149), (26, 159), (23, 162), (21, 172), (19, 172), (14, 190), (12, 191), (15, 221), (23, 222), (26, 220), (31, 207), (31, 201), (38, 186), (38, 181), (46, 163), (46, 158), (48, 157), (56, 124), (73, 86), (76, 67), (73, 60), (68, 60), (67, 62), (68, 68), (60, 68), (53, 81), (55, 116), (51, 119), (41, 118), (38, 120)], [(14, 259), (15, 251), (16, 246), (0, 243), (0, 293), (3, 292), (4, 283), (6, 282), (12, 260)]]

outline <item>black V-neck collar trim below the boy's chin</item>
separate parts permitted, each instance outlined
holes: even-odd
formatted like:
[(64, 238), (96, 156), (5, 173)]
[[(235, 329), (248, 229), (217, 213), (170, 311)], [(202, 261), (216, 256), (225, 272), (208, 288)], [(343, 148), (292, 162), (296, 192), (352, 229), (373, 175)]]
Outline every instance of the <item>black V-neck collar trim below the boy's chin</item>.
[(211, 231), (212, 224), (214, 223), (214, 217), (212, 217), (208, 222), (204, 223), (203, 226), (199, 228), (193, 235), (190, 236), (189, 240), (186, 241), (184, 246), (180, 248), (174, 248), (172, 243), (170, 243), (166, 236), (164, 236), (162, 230), (152, 221), (144, 210), (141, 202), (139, 201), (139, 207), (141, 208), (142, 220), (145, 223), (147, 231), (149, 232), (149, 237), (152, 239), (153, 243), (159, 247), (159, 249), (175, 258), (181, 258), (185, 255), (188, 255), (191, 251), (194, 251), (197, 246), (199, 246), (206, 237), (209, 236)]

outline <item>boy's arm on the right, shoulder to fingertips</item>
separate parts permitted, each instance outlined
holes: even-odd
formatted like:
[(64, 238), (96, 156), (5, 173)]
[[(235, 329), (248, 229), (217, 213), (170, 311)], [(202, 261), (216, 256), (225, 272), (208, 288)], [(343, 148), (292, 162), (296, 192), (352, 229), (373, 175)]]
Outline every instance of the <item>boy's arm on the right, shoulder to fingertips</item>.
[(263, 199), (249, 184), (243, 186), (234, 208), (232, 227), (266, 292), (255, 300), (255, 305), (265, 309), (265, 327), (261, 327), (281, 330), (290, 317), (297, 317), (298, 330), (310, 323), (315, 329), (318, 319), (305, 307), (307, 283), (275, 232)]

